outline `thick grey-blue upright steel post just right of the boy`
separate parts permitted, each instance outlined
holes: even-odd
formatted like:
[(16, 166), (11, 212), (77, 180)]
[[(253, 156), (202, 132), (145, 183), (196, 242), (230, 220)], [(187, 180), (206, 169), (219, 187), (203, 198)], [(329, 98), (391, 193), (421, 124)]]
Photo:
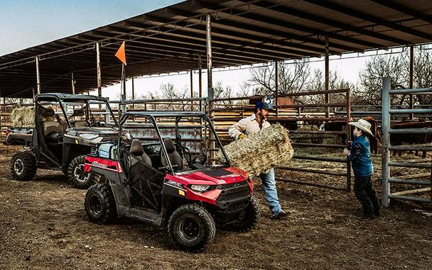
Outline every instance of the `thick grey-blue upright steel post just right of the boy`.
[(390, 78), (385, 77), (382, 79), (382, 176), (381, 176), (381, 190), (382, 190), (382, 206), (390, 206)]

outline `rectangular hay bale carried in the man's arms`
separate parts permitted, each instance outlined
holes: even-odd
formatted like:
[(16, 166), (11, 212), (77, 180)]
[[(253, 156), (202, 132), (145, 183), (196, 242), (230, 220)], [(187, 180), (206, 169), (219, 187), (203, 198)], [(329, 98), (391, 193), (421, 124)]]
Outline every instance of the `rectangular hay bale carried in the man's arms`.
[[(294, 150), (288, 136), (289, 131), (279, 124), (264, 128), (259, 133), (231, 142), (225, 151), (232, 163), (250, 176), (258, 176), (272, 167), (286, 164)], [(222, 152), (217, 156), (221, 159)]]

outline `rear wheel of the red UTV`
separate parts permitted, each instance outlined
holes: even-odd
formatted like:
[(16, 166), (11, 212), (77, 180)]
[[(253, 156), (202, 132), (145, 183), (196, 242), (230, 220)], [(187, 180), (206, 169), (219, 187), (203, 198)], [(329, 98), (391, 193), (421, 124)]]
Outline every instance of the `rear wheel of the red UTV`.
[(108, 184), (95, 184), (85, 194), (85, 212), (95, 223), (108, 223), (117, 216), (116, 203)]

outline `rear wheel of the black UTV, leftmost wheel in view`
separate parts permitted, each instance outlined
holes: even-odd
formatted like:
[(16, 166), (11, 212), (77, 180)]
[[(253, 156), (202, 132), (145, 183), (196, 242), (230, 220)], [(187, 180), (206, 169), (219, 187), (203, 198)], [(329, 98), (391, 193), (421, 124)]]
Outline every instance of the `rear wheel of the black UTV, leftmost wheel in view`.
[(14, 179), (27, 181), (36, 175), (36, 158), (33, 153), (25, 151), (13, 155), (11, 159), (11, 172)]

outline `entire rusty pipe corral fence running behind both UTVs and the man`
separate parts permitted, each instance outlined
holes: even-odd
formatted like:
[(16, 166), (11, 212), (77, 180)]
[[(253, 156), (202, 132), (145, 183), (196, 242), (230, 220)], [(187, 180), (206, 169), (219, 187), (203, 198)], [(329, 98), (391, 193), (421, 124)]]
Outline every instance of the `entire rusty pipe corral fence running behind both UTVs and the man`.
[[(343, 177), (346, 179), (346, 184), (344, 186), (335, 186), (335, 184), (326, 184), (326, 183), (317, 183), (312, 181), (301, 181), (298, 179), (286, 179), (283, 177), (277, 177), (279, 181), (289, 181), (298, 184), (308, 184), (311, 186), (319, 186), (330, 189), (340, 189), (350, 191), (351, 186), (351, 173), (350, 173), (350, 162), (346, 158), (334, 158), (334, 157), (317, 157), (313, 154), (316, 149), (338, 149), (342, 152), (342, 148), (345, 147), (345, 144), (332, 144), (332, 143), (323, 143), (323, 139), (326, 136), (330, 137), (338, 137), (340, 135), (345, 135), (347, 138), (350, 138), (349, 129), (345, 130), (318, 130), (318, 128), (304, 128), (311, 127), (312, 125), (318, 125), (318, 123), (329, 122), (329, 121), (341, 121), (346, 123), (350, 120), (350, 90), (349, 89), (337, 89), (330, 90), (327, 92), (328, 94), (340, 95), (343, 96), (343, 102), (335, 102), (335, 103), (298, 103), (294, 102), (293, 98), (301, 99), (310, 97), (310, 96), (323, 96), (326, 94), (325, 91), (313, 91), (313, 92), (305, 92), (298, 94), (286, 94), (286, 95), (278, 95), (274, 96), (276, 99), (278, 106), (274, 106), (276, 111), (271, 113), (269, 120), (271, 122), (279, 122), (282, 125), (285, 125), (286, 128), (290, 130), (291, 137), (294, 135), (305, 135), (304, 137), (298, 137), (293, 139), (293, 147), (294, 149), (309, 149), (310, 154), (296, 154), (293, 159), (303, 159), (306, 161), (319, 161), (319, 162), (331, 162), (345, 165), (345, 172), (341, 171), (331, 171), (329, 169), (315, 169), (311, 167), (295, 167), (295, 166), (286, 166), (280, 167), (276, 169), (281, 169), (282, 171), (299, 171), (299, 172), (307, 172), (311, 174), (319, 174), (319, 175), (329, 175), (329, 176), (337, 176)], [(227, 134), (227, 130), (230, 125), (234, 122), (240, 120), (241, 118), (250, 116), (253, 113), (254, 103), (263, 99), (264, 96), (246, 96), (232, 99), (213, 99), (212, 106), (206, 102), (206, 99), (146, 99), (146, 100), (131, 100), (124, 101), (120, 103), (119, 101), (110, 101), (110, 105), (112, 106), (112, 110), (116, 117), (119, 116), (119, 108), (123, 107), (126, 111), (207, 111), (208, 108), (212, 108), (211, 111), (207, 111), (212, 115), (212, 120), (215, 123), (215, 128), (217, 130), (218, 135), (220, 135), (220, 139), (222, 143), (227, 144), (232, 141), (232, 138)], [(320, 100), (320, 99), (318, 99)], [(323, 100), (323, 99), (321, 99)], [(30, 104), (28, 104), (30, 105)], [(3, 132), (6, 128), (11, 126), (11, 111), (13, 108), (18, 107), (18, 104), (4, 104), (2, 106), (1, 116), (1, 127)], [(330, 108), (345, 108), (347, 113), (345, 115), (336, 116), (334, 113), (328, 113)], [(97, 114), (96, 118), (100, 118), (99, 120), (104, 120), (107, 116), (107, 111), (97, 110), (97, 108), (92, 108), (92, 112)], [(136, 124), (146, 124), (146, 120), (136, 118), (134, 119), (134, 123)], [(175, 120), (171, 120), (167, 123), (161, 123), (162, 125), (166, 125), (165, 128), (167, 133), (164, 134), (165, 137), (173, 137), (172, 133), (168, 133), (168, 130), (172, 130), (174, 127)], [(187, 121), (186, 121), (187, 122)], [(183, 142), (186, 147), (192, 147), (193, 142), (202, 142), (209, 143), (210, 148), (209, 151), (214, 153), (219, 151), (218, 148), (214, 146), (212, 142), (215, 142), (214, 138), (207, 137), (208, 127), (202, 125), (202, 123), (182, 123), (180, 128), (183, 130), (183, 133), (186, 135)], [(294, 125), (293, 125), (294, 124)], [(291, 126), (293, 125), (293, 126)], [(127, 125), (129, 130), (134, 132), (135, 127), (134, 124)], [(149, 125), (150, 128), (150, 125)], [(4, 136), (4, 133), (2, 133)], [(138, 134), (136, 134), (138, 135)], [(151, 140), (151, 135), (138, 135), (143, 140)], [(4, 137), (2, 138), (4, 140)], [(305, 142), (306, 140), (306, 142)], [(307, 141), (309, 140), (309, 142)], [(192, 154), (198, 154), (199, 150), (194, 147), (191, 148)], [(214, 155), (212, 155), (214, 156)], [(317, 179), (319, 179), (317, 177)]]

